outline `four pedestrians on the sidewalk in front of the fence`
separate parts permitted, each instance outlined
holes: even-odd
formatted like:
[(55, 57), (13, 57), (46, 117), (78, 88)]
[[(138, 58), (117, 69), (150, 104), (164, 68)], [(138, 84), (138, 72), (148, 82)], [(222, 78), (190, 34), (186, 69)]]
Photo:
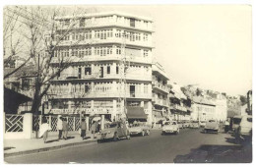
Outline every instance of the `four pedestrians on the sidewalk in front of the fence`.
[[(94, 126), (94, 128), (93, 128)], [(94, 138), (95, 138), (95, 133), (96, 133), (96, 124), (92, 125), (92, 132), (94, 131)], [(47, 142), (48, 138), (48, 132), (51, 131), (50, 125), (47, 123), (46, 118), (42, 118), (42, 124), (40, 125), (39, 129), (39, 138), (43, 138), (44, 143)], [(58, 121), (57, 121), (57, 130), (58, 130), (58, 140), (67, 140), (68, 139), (68, 121), (67, 118), (58, 116)], [(82, 140), (85, 140), (86, 138), (86, 131), (87, 131), (87, 123), (85, 119), (82, 119), (81, 124), (80, 124), (80, 136)]]

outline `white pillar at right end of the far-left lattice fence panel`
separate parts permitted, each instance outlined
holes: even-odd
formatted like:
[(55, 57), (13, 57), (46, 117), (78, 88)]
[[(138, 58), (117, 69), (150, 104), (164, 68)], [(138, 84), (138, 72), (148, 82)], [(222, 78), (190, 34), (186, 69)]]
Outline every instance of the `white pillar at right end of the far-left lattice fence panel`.
[(23, 120), (25, 139), (32, 139), (32, 113), (26, 113)]

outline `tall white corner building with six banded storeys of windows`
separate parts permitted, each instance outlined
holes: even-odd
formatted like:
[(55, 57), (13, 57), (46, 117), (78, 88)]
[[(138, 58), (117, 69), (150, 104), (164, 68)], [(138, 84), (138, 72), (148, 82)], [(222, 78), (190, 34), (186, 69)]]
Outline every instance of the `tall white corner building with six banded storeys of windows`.
[(139, 106), (151, 123), (153, 21), (98, 13), (57, 22), (59, 32), (77, 24), (58, 45), (51, 62), (55, 71), (59, 55), (72, 58), (72, 65), (51, 81), (50, 111), (104, 115), (113, 121), (122, 117), (125, 106)]

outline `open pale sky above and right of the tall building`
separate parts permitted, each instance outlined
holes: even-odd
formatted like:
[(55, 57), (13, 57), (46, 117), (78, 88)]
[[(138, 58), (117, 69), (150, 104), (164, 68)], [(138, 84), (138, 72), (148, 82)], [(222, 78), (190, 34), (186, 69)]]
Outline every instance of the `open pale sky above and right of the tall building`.
[(171, 83), (245, 95), (252, 89), (249, 5), (97, 6), (151, 17), (154, 56)]

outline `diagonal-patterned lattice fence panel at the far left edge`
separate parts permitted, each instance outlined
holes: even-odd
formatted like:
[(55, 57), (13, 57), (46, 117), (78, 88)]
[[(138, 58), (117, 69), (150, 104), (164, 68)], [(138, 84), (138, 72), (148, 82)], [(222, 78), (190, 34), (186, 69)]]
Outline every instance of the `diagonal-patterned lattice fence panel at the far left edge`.
[(23, 132), (24, 130), (23, 115), (5, 115), (5, 132)]

